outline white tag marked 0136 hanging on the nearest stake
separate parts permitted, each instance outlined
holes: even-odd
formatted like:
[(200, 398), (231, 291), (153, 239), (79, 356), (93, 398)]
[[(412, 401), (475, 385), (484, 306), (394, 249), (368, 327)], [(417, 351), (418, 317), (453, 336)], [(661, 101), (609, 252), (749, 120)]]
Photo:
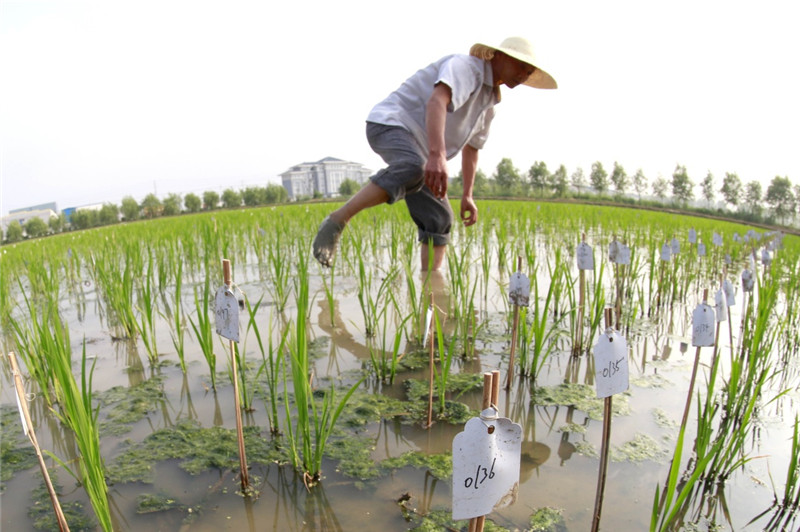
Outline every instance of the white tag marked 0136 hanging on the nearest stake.
[(487, 515), (516, 500), (521, 450), (522, 427), (510, 419), (467, 421), (453, 439), (453, 520)]

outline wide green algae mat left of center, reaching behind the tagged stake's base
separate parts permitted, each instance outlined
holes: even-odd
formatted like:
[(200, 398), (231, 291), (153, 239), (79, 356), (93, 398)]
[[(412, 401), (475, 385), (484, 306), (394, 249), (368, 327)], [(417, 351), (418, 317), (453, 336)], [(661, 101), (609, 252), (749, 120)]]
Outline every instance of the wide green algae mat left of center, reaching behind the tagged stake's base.
[[(285, 463), (288, 453), (279, 443), (261, 437), (258, 427), (244, 428), (247, 460), (252, 464)], [(112, 483), (153, 482), (156, 463), (179, 459), (180, 467), (191, 475), (209, 469), (233, 469), (239, 465), (239, 446), (234, 430), (201, 428), (195, 422), (160, 429), (141, 443), (129, 447), (108, 469)]]

